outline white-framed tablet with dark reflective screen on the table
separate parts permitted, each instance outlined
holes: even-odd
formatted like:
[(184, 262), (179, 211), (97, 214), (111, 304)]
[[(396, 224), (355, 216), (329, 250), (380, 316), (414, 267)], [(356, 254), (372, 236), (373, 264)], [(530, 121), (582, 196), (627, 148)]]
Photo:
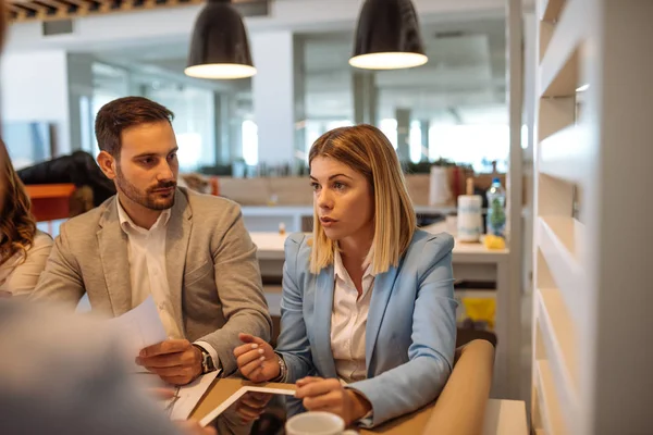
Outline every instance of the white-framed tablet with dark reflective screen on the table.
[(213, 409), (201, 426), (215, 427), (219, 434), (278, 435), (286, 420), (301, 412), (301, 401), (288, 389), (246, 386)]

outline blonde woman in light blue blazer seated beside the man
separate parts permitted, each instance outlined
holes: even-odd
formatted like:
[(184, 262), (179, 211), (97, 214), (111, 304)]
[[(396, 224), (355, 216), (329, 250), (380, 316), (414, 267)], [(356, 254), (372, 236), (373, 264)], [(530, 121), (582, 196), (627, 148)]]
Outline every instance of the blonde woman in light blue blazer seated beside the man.
[(440, 394), (456, 340), (449, 235), (416, 227), (395, 150), (375, 127), (325, 133), (309, 154), (312, 237), (285, 244), (276, 352), (241, 334), (254, 382), (295, 383), (308, 410), (373, 426)]

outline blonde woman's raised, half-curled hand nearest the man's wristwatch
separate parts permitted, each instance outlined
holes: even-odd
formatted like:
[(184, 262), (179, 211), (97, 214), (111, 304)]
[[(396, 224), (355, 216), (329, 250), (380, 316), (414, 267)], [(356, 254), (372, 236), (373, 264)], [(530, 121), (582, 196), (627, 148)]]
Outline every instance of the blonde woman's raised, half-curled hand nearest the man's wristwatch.
[(234, 349), (234, 357), (243, 376), (252, 382), (266, 382), (279, 376), (281, 368), (272, 346), (249, 334), (238, 334), (238, 338), (245, 344)]

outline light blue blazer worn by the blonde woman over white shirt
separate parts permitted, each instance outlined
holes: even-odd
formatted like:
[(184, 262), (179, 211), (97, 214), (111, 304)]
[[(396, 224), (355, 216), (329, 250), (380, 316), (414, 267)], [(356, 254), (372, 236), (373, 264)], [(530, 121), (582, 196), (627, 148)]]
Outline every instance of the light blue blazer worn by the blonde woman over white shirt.
[[(333, 265), (310, 273), (309, 238), (294, 234), (285, 243), (276, 351), (289, 383), (307, 375), (337, 377), (331, 351)], [(417, 410), (444, 387), (456, 343), (453, 248), (448, 234), (417, 229), (398, 266), (377, 275), (366, 326), (368, 378), (348, 386), (372, 403), (371, 422), (362, 424)]]

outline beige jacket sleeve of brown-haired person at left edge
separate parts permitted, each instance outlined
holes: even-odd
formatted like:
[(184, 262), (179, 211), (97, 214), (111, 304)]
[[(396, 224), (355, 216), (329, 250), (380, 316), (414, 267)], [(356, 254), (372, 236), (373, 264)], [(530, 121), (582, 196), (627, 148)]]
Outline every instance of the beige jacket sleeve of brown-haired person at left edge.
[(37, 231), (34, 243), (27, 251), (25, 261), (16, 259), (17, 265), (9, 274), (0, 290), (9, 291), (12, 296), (26, 297), (36, 287), (41, 272), (46, 269), (46, 262), (52, 249), (52, 237)]

